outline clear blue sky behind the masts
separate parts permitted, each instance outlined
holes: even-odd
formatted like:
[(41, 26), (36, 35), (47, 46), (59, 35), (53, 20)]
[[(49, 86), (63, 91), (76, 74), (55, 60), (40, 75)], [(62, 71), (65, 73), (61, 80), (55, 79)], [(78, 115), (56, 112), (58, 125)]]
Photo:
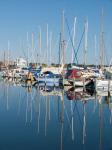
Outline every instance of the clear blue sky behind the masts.
[[(87, 63), (99, 61), (99, 45), (101, 32), (101, 11), (104, 11), (104, 43), (106, 63), (112, 57), (112, 0), (0, 0), (0, 59), (4, 51), (9, 58), (27, 58), (41, 62), (59, 62), (59, 39), (61, 32), (61, 16), (65, 18), (65, 62), (71, 62), (74, 17), (76, 22), (75, 49), (79, 45), (84, 30), (84, 22), (88, 20)], [(47, 43), (48, 24), (48, 51)], [(42, 48), (39, 51), (39, 28), (42, 34)], [(32, 33), (34, 48), (32, 49)], [(28, 36), (27, 36), (28, 34)], [(94, 36), (96, 35), (96, 57)], [(27, 40), (28, 37), (28, 40)], [(9, 41), (9, 42), (8, 42)], [(51, 41), (51, 50), (50, 50)], [(8, 48), (9, 43), (9, 48)], [(84, 62), (84, 39), (78, 50), (78, 62)]]

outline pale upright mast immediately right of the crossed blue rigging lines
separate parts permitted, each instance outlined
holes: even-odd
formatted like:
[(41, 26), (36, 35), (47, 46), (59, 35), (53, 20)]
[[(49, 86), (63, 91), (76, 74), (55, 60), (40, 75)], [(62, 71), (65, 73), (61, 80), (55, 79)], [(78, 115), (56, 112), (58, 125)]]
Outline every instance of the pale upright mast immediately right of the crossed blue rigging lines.
[(85, 44), (84, 44), (84, 66), (87, 64), (87, 38), (88, 38), (88, 20), (85, 21)]

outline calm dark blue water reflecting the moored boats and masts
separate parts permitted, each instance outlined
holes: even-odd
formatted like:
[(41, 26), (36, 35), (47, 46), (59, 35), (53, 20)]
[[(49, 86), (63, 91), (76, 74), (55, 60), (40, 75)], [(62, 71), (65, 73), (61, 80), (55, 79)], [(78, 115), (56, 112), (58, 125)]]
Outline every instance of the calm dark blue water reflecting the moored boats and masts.
[(0, 82), (0, 150), (111, 150), (112, 98)]

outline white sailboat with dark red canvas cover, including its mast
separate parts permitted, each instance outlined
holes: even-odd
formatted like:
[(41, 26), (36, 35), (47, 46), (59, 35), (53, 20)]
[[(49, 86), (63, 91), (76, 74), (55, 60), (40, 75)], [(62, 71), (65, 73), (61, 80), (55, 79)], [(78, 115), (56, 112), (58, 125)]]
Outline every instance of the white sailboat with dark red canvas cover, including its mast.
[[(76, 24), (76, 19), (75, 19), (74, 24)], [(83, 34), (81, 37), (81, 41), (82, 41), (82, 38), (85, 34), (84, 65), (86, 65), (87, 33), (88, 33), (88, 22), (86, 21), (85, 26), (84, 26), (84, 31), (83, 31)], [(80, 43), (81, 43), (81, 41), (80, 41)], [(74, 48), (74, 41), (72, 41), (72, 45)], [(79, 48), (79, 46), (78, 46), (78, 48)], [(77, 52), (75, 52), (74, 56), (75, 56), (75, 59), (77, 61)], [(77, 63), (78, 63), (78, 61), (77, 61)], [(92, 82), (91, 77), (93, 77), (93, 75), (94, 75), (94, 72), (90, 72), (87, 69), (85, 70), (83, 67), (78, 67), (78, 66), (74, 66), (73, 64), (71, 64), (71, 66), (67, 67), (67, 72), (66, 72), (65, 78), (64, 78), (64, 85), (70, 84), (70, 85), (73, 85), (74, 87), (84, 87), (87, 85), (90, 86), (90, 84)]]

